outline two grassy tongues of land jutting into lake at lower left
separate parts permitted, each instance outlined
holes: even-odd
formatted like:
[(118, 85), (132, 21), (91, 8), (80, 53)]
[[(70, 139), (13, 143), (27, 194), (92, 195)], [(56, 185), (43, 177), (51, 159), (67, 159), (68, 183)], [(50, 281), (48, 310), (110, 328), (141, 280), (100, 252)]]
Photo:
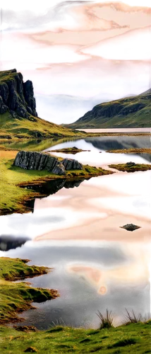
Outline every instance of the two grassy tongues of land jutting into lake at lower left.
[(19, 258), (0, 257), (0, 323), (10, 324), (18, 319), (19, 311), (32, 307), (32, 301), (39, 302), (45, 299), (59, 297), (56, 290), (35, 288), (25, 282), (16, 282), (23, 278), (32, 278), (36, 275), (50, 273), (52, 268), (28, 265), (29, 260)]

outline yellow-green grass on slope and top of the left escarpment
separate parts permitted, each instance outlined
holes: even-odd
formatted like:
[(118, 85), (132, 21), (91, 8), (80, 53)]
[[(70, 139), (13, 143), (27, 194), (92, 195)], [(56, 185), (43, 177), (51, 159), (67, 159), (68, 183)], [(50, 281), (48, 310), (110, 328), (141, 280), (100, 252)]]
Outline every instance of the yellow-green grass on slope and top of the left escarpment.
[[(13, 82), (13, 86), (23, 79), (23, 76), (12, 70), (4, 70), (0, 72), (0, 87), (8, 91), (8, 86)], [(19, 96), (18, 91), (16, 91)], [(20, 93), (21, 95), (21, 93)], [(28, 112), (27, 112), (28, 113)], [(68, 130), (60, 125), (48, 122), (40, 117), (34, 117), (28, 113), (28, 118), (21, 118), (16, 114), (14, 118), (9, 111), (0, 116), (1, 132), (0, 139), (14, 138), (45, 138), (45, 137), (80, 137), (81, 133)], [(85, 134), (84, 134), (85, 135)]]

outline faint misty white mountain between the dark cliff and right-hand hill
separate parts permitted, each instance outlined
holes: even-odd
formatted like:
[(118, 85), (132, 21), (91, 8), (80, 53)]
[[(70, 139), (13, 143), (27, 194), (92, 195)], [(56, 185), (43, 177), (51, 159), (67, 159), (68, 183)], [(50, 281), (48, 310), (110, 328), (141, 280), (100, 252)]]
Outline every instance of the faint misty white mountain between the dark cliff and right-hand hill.
[(35, 99), (40, 117), (58, 124), (74, 122), (97, 103), (108, 101), (99, 98), (82, 98), (69, 95), (43, 96), (38, 94), (35, 94)]

